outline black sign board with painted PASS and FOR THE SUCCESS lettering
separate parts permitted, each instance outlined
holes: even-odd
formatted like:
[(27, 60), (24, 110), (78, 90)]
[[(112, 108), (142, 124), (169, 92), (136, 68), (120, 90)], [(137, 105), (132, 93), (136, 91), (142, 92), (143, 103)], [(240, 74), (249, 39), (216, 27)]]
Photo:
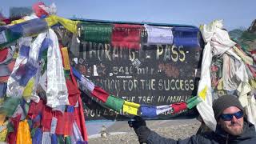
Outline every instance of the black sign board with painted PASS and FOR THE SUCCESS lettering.
[[(168, 26), (174, 34), (172, 44), (143, 44), (148, 35), (142, 30), (140, 49), (80, 39), (79, 51), (73, 57), (77, 61), (75, 67), (95, 86), (129, 102), (151, 106), (186, 102), (197, 91), (202, 38), (197, 27)], [(88, 93), (82, 98), (86, 121), (129, 119), (129, 116), (104, 108)], [(191, 114), (194, 114), (193, 110), (178, 116)], [(178, 116), (169, 111), (159, 115), (158, 119)]]

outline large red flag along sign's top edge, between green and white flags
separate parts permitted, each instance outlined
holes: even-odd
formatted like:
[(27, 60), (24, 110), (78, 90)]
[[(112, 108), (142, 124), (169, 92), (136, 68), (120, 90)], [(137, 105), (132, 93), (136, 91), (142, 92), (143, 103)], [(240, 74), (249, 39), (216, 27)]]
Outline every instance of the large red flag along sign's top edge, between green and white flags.
[(128, 24), (114, 24), (112, 45), (129, 49), (140, 48), (142, 26)]

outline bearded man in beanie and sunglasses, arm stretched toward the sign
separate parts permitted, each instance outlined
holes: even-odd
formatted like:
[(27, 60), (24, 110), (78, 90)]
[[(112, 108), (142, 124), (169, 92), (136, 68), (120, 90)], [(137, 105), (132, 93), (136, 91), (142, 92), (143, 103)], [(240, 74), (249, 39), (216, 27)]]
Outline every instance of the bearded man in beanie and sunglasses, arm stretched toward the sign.
[(146, 127), (146, 122), (136, 116), (132, 123), (140, 143), (177, 143), (177, 144), (208, 144), (208, 143), (239, 143), (256, 144), (254, 125), (247, 121), (243, 107), (234, 95), (224, 95), (214, 104), (214, 116), (218, 122), (215, 132), (196, 134), (184, 140), (175, 141), (171, 138), (162, 138)]

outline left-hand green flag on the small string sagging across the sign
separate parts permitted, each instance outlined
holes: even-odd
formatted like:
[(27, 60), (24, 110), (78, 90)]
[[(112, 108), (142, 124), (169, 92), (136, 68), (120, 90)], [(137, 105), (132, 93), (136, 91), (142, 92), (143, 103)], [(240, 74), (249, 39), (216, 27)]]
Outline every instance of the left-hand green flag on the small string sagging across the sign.
[(110, 95), (105, 102), (105, 105), (115, 111), (120, 111), (122, 109), (122, 105), (125, 102), (122, 98), (114, 97), (113, 95)]

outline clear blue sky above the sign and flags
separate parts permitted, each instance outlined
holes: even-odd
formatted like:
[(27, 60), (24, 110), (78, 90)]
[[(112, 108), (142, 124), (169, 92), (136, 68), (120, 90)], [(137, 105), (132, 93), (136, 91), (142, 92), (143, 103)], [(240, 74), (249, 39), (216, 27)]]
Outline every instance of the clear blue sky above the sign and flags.
[[(0, 10), (32, 6), (38, 0), (0, 0)], [(199, 26), (224, 19), (227, 30), (248, 27), (256, 18), (256, 0), (42, 0), (55, 2), (58, 15), (126, 22), (156, 22)]]

